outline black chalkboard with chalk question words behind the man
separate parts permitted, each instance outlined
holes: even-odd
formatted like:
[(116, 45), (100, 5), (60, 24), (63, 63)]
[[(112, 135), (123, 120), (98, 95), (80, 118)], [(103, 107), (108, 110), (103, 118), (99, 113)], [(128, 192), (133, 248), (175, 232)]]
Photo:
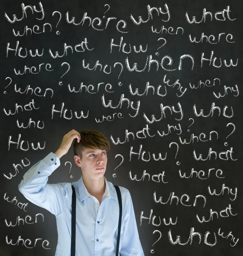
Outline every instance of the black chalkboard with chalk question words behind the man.
[[(32, 14), (31, 9), (27, 9), (26, 16), (23, 16), (19, 1), (4, 0), (0, 4), (0, 163), (2, 170), (0, 179), (2, 198), (0, 256), (51, 256), (55, 254), (58, 239), (55, 216), (28, 202), (19, 192), (18, 184), (32, 165), (43, 159), (49, 152), (55, 153), (65, 134), (72, 129), (82, 131), (89, 128), (101, 131), (110, 140), (111, 150), (108, 154), (105, 177), (113, 184), (124, 186), (130, 190), (145, 255), (151, 253), (159, 256), (243, 255), (243, 193), (241, 186), (243, 180), (241, 78), (243, 2), (240, 0), (168, 0), (166, 2), (43, 0), (22, 3), (25, 6), (36, 6), (37, 10), (40, 10), (40, 4), (44, 10), (43, 19), (40, 12), (34, 11)], [(157, 9), (153, 9), (151, 15), (148, 16), (149, 6)], [(168, 13), (160, 12), (158, 15), (156, 10), (161, 8), (162, 12), (166, 12), (166, 6), (168, 6), (170, 17)], [(212, 20), (210, 14), (203, 19), (203, 9), (205, 9), (204, 12), (212, 13)], [(222, 11), (224, 12), (218, 13), (216, 17), (219, 19), (224, 17), (225, 20), (216, 20), (215, 13)], [(58, 22), (60, 19), (58, 12), (61, 13), (60, 22)], [(69, 24), (66, 20), (67, 12), (69, 20), (75, 17), (75, 23), (80, 23), (84, 13), (87, 12), (87, 16), (91, 17), (92, 21), (95, 17), (99, 17), (102, 24), (98, 26), (97, 18), (93, 21), (93, 27), (89, 26), (89, 20), (85, 20), (83, 25), (82, 23), (80, 25)], [(197, 22), (201, 22), (190, 24), (186, 19), (186, 13), (189, 20), (195, 16)], [(13, 20), (14, 14), (18, 19), (23, 16), (23, 19), (10, 23), (7, 17)], [(132, 19), (138, 21), (139, 16), (146, 22), (136, 25)], [(116, 19), (110, 20), (105, 28), (109, 17)], [(123, 27), (124, 23), (120, 20), (126, 22), (126, 27)], [(43, 32), (45, 23), (49, 23), (52, 30), (49, 25), (46, 25), (45, 32)], [(117, 24), (121, 32), (116, 28)], [(41, 33), (33, 32), (31, 34), (29, 32), (26, 35), (24, 34), (26, 26), (32, 29), (35, 26), (35, 32)], [(40, 28), (39, 31), (37, 26)], [(165, 29), (159, 33), (162, 26)], [(166, 32), (169, 27), (171, 29)], [(177, 31), (178, 27), (182, 29)], [(157, 33), (153, 32), (152, 28), (153, 30), (157, 29)], [(103, 30), (98, 31), (97, 29)], [(14, 32), (17, 33), (17, 31), (22, 36), (15, 36)], [(59, 35), (57, 35), (57, 31), (60, 32)], [(213, 41), (211, 36), (211, 43), (207, 41), (207, 38), (198, 43), (190, 41), (189, 36), (192, 40), (195, 37), (197, 41), (200, 41), (202, 33), (207, 36), (214, 35), (215, 40)], [(220, 33), (224, 34), (221, 34), (218, 41)], [(232, 37), (228, 34), (231, 34)], [(130, 44), (131, 52), (125, 53), (122, 51), (122, 47), (121, 49), (112, 47), (111, 52), (112, 40), (117, 45), (121, 40), (122, 45), (126, 43), (124, 51), (129, 51)], [(86, 41), (87, 43), (85, 43)], [(10, 48), (15, 49), (17, 42), (19, 45), (16, 54), (14, 51), (7, 51), (8, 44)], [(84, 42), (85, 51), (76, 52), (75, 45), (82, 42)], [(67, 54), (64, 54), (64, 44), (72, 46), (73, 52), (70, 47), (67, 49)], [(162, 46), (163, 44), (164, 46)], [(142, 45), (144, 50), (147, 46), (147, 50), (136, 53), (133, 50), (134, 45), (136, 49)], [(87, 50), (86, 46), (92, 50)], [(21, 50), (23, 55), (25, 48), (27, 49), (26, 58), (18, 56), (20, 47), (23, 48)], [(38, 49), (39, 54), (43, 49), (43, 56), (32, 57), (29, 53), (30, 49), (34, 53), (35, 49)], [(58, 51), (60, 56), (63, 54), (64, 56), (52, 58), (49, 49), (54, 55)], [(77, 49), (81, 50), (81, 47), (77, 47)], [(210, 58), (213, 54), (211, 63), (203, 61), (201, 64), (203, 54), (204, 58)], [(191, 58), (183, 58), (183, 55), (190, 55)], [(169, 57), (173, 62), (169, 62)], [(194, 65), (192, 65), (192, 58)], [(220, 59), (222, 66), (215, 67), (215, 65), (220, 65)], [(229, 64), (231, 59), (234, 67), (226, 67), (225, 63)], [(148, 63), (145, 67), (146, 60)], [(149, 68), (148, 64), (151, 60), (153, 62)], [(159, 63), (158, 67), (156, 60)], [(97, 66), (96, 70), (85, 69), (83, 61), (85, 65), (90, 64), (90, 69), (98, 61), (102, 64), (102, 70), (100, 71), (100, 66)], [(65, 72), (68, 70), (68, 64), (65, 63), (68, 63), (70, 67), (67, 73)], [(137, 63), (139, 72), (132, 71), (133, 63)], [(31, 74), (29, 71), (23, 75), (14, 73), (14, 69), (23, 73), (25, 65), (38, 68), (40, 64), (43, 65), (41, 65), (40, 72), (36, 71), (37, 74)], [(51, 68), (46, 64), (50, 64)], [(111, 68), (110, 74), (103, 71), (105, 65), (107, 65), (105, 69), (107, 73)], [(45, 67), (52, 71), (47, 71)], [(121, 67), (123, 70), (120, 74)], [(32, 71), (34, 70), (32, 69)], [(168, 79), (169, 82), (166, 82)], [(205, 86), (206, 80), (208, 80), (206, 84), (211, 86)], [(175, 84), (176, 81), (177, 84)], [(94, 89), (89, 87), (91, 93), (85, 91), (84, 87), (82, 92), (70, 92), (73, 87), (78, 91), (81, 83), (87, 86), (93, 84)], [(101, 84), (98, 90), (99, 83), (104, 84)], [(154, 94), (152, 87), (146, 93), (147, 83), (154, 87)], [(107, 91), (105, 90), (106, 84), (108, 84)], [(200, 87), (191, 88), (190, 84), (191, 87), (193, 84), (195, 87), (199, 85)], [(41, 89), (37, 88), (33, 94), (31, 91), (23, 93), (28, 85), (33, 89), (37, 87)], [(131, 90), (129, 90), (129, 85)], [(158, 87), (161, 96), (157, 94)], [(229, 88), (227, 89), (227, 87)], [(20, 89), (18, 90), (18, 88)], [(52, 90), (47, 90), (45, 95), (47, 88)], [(140, 96), (132, 95), (136, 88), (138, 88)], [(164, 95), (165, 90), (166, 95)], [(182, 94), (184, 90), (185, 93)], [(108, 91), (112, 91), (112, 93)], [(217, 98), (219, 93), (222, 97)], [(127, 100), (120, 102), (119, 105), (122, 95)], [(102, 104), (103, 99), (106, 105), (112, 101), (113, 108), (105, 107)], [(29, 104), (30, 102), (32, 103)], [(52, 115), (52, 108), (61, 111), (62, 104), (62, 113), (54, 112)], [(137, 108), (138, 104), (139, 111), (136, 113), (134, 108)], [(13, 114), (17, 105), (21, 105), (23, 108), (26, 105), (26, 110), (21, 111), (18, 108), (18, 112)], [(182, 108), (183, 116), (175, 112), (179, 111), (179, 106)], [(210, 114), (212, 106), (215, 108), (214, 112)], [(216, 106), (220, 108), (220, 112)], [(165, 115), (162, 115), (161, 108), (163, 107), (167, 107)], [(231, 108), (233, 116), (229, 117), (232, 114)], [(170, 109), (174, 109), (174, 111), (170, 111)], [(208, 115), (208, 117), (196, 116), (197, 113), (200, 113), (200, 109), (203, 109), (204, 115)], [(9, 111), (12, 111), (12, 114), (9, 115)], [(88, 116), (78, 119), (75, 117), (75, 111), (78, 116), (81, 111), (84, 116), (87, 116), (88, 113)], [(70, 118), (71, 112), (72, 118)], [(121, 114), (118, 115), (118, 113)], [(114, 118), (113, 114), (115, 114)], [(156, 118), (154, 122), (150, 122), (153, 119), (152, 115)], [(98, 119), (102, 120), (102, 116), (112, 117), (104, 122), (97, 122)], [(35, 122), (36, 126), (34, 127), (32, 124), (28, 127), (29, 120)], [(38, 121), (40, 128), (37, 127)], [(25, 128), (20, 128), (22, 123)], [(168, 125), (171, 125), (170, 133), (168, 133)], [(43, 126), (44, 128), (42, 128)], [(178, 130), (174, 131), (172, 126), (176, 126)], [(136, 132), (143, 128), (145, 128), (146, 138), (141, 139), (136, 136)], [(129, 140), (125, 141), (126, 131), (133, 133), (134, 139), (130, 134)], [(159, 136), (159, 133), (162, 135), (163, 131), (165, 135)], [(211, 133), (211, 140), (209, 140), (211, 131), (215, 132)], [(232, 131), (234, 132), (231, 134)], [(154, 136), (150, 137), (148, 133), (150, 136)], [(201, 141), (197, 142), (194, 138), (194, 142), (189, 143), (192, 134), (195, 136), (201, 134)], [(206, 137), (203, 137), (203, 134)], [(142, 133), (138, 136), (142, 137)], [(115, 145), (113, 142), (117, 142), (118, 138), (121, 143)], [(18, 139), (19, 144), (17, 144)], [(180, 140), (183, 142), (184, 139), (188, 144), (180, 143)], [(41, 149), (36, 149), (38, 143), (40, 143)], [(141, 148), (140, 156), (130, 154), (130, 151), (138, 153), (139, 148)], [(207, 159), (210, 148), (216, 153), (212, 153), (211, 159), (209, 157)], [(202, 154), (203, 160), (196, 160), (194, 152), (195, 157)], [(226, 153), (220, 154), (220, 152)], [(158, 159), (159, 153), (162, 158), (166, 156), (166, 159), (154, 160), (153, 154)], [(222, 158), (228, 160), (222, 160)], [(122, 164), (119, 165), (121, 162)], [(16, 169), (15, 166), (17, 166)], [(205, 179), (196, 177), (196, 173), (188, 179), (179, 176), (180, 170), (182, 175), (186, 173), (188, 177), (192, 168), (197, 172), (203, 170)], [(209, 169), (212, 170), (208, 177)], [(150, 174), (150, 180), (148, 180), (148, 176), (145, 176), (144, 180), (140, 180), (144, 170)], [(218, 177), (215, 175), (217, 170), (219, 170)], [(200, 172), (200, 177), (203, 177), (203, 171)], [(116, 175), (113, 175), (114, 173)], [(163, 180), (167, 183), (162, 182), (162, 175), (159, 176), (160, 182), (152, 180), (152, 175), (159, 174), (164, 174)], [(134, 175), (137, 175), (137, 180), (140, 181), (132, 180)], [(61, 158), (61, 166), (49, 177), (48, 183), (72, 182), (80, 177), (81, 169), (75, 165), (73, 151), (70, 148), (68, 154)], [(154, 179), (156, 179), (155, 176)], [(210, 195), (208, 188), (211, 192), (215, 189), (216, 193), (220, 194), (222, 187), (229, 187), (232, 194), (237, 191), (237, 195), (232, 195), (227, 189), (221, 195)], [(178, 203), (176, 199), (172, 202), (168, 200), (173, 192), (175, 196), (179, 197)], [(190, 197), (188, 202), (185, 194)], [(194, 206), (197, 195), (203, 195), (206, 198), (205, 207), (202, 197), (197, 199)], [(158, 201), (159, 197), (162, 197), (162, 202), (168, 201), (168, 203), (156, 202), (155, 200)], [(9, 198), (8, 201), (7, 198)], [(14, 198), (17, 201), (12, 201)], [(28, 204), (24, 208), (23, 204), (26, 203)], [(22, 209), (20, 209), (21, 207)], [(142, 218), (141, 224), (140, 218), (142, 216), (149, 217), (151, 210), (151, 220)], [(221, 215), (226, 217), (220, 216), (222, 210), (225, 211), (221, 212)], [(213, 219), (208, 221), (210, 211), (217, 211), (218, 218), (217, 213), (214, 213)], [(27, 222), (34, 222), (35, 215), (38, 213), (43, 214), (43, 222), (38, 217), (37, 223), (34, 224), (26, 222), (23, 224), (21, 221), (16, 224), (17, 218), (26, 218), (27, 215), (31, 216), (33, 220), (29, 221), (27, 217)], [(153, 216), (156, 217), (153, 219)], [(200, 223), (197, 216), (200, 220), (205, 216), (205, 220), (208, 222)], [(168, 223), (169, 218), (176, 224), (165, 225), (164, 220)], [(10, 221), (16, 226), (8, 227)], [(201, 240), (197, 235), (190, 239), (190, 232), (193, 229), (194, 232), (201, 233)], [(224, 238), (219, 235), (222, 232)], [(34, 247), (35, 239), (41, 238), (41, 240), (36, 242), (34, 248), (28, 249), (21, 241), (16, 244), (19, 236), (21, 239), (32, 241), (31, 245), (28, 244), (28, 241), (26, 242), (29, 247)], [(176, 241), (176, 236), (180, 236), (180, 242), (184, 245), (171, 244), (171, 241)], [(11, 239), (12, 243), (9, 244)], [(239, 240), (237, 241), (237, 239)], [(44, 243), (44, 247), (50, 248), (49, 250), (42, 247), (44, 240), (49, 241), (49, 246), (46, 245), (46, 242)]]

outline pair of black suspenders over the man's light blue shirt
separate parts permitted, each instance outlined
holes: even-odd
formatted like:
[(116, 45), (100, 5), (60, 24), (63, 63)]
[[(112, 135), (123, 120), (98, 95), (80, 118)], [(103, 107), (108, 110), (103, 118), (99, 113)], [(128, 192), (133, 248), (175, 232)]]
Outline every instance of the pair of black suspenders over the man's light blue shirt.
[[(118, 222), (118, 234), (116, 244), (116, 256), (119, 256), (119, 243), (122, 224), (122, 195), (119, 186), (115, 186), (118, 202), (119, 202), (119, 222)], [(75, 188), (72, 185), (72, 232), (71, 232), (71, 256), (75, 256), (75, 240), (76, 240), (76, 193)]]

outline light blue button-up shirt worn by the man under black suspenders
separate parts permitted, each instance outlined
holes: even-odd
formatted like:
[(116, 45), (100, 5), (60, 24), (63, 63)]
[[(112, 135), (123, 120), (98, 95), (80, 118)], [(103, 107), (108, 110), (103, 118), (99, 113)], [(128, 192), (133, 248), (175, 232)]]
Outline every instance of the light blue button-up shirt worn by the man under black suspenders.
[[(71, 183), (48, 184), (48, 176), (60, 166), (60, 159), (48, 154), (23, 175), (20, 192), (33, 204), (56, 216), (58, 244), (55, 256), (69, 256), (71, 250)], [(119, 202), (114, 185), (105, 181), (99, 201), (87, 191), (83, 177), (72, 182), (76, 191), (75, 256), (115, 256), (119, 221)], [(122, 256), (144, 256), (131, 195), (119, 186), (122, 195), (122, 226), (119, 252)]]

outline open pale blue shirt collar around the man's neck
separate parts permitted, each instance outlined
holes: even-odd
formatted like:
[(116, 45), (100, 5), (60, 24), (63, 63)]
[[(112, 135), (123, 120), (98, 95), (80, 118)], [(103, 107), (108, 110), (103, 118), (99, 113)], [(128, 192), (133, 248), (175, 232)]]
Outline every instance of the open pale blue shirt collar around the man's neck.
[[(114, 193), (115, 187), (113, 186), (112, 183), (108, 183), (107, 179), (104, 177), (104, 182), (105, 182), (105, 191), (104, 194), (106, 195), (107, 198), (114, 198), (118, 200), (116, 193)], [(81, 175), (81, 178), (77, 181), (78, 183), (78, 192), (79, 192), (79, 198), (80, 201), (83, 201), (84, 198), (87, 196), (92, 196), (84, 186), (84, 180), (83, 180), (83, 175)]]

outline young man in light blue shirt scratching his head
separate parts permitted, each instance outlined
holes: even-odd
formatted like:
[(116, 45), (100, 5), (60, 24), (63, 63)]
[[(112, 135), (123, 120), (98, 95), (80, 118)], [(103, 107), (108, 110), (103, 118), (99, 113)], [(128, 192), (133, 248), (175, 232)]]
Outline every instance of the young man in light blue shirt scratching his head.
[[(98, 131), (67, 133), (58, 150), (48, 154), (23, 175), (20, 192), (33, 204), (56, 216), (58, 244), (55, 256), (69, 256), (71, 248), (72, 184), (48, 184), (48, 176), (60, 166), (74, 141), (74, 160), (82, 176), (72, 182), (76, 192), (76, 256), (115, 256), (119, 202), (114, 185), (104, 177), (110, 144)], [(122, 226), (119, 252), (122, 256), (144, 256), (128, 189), (122, 195)]]

